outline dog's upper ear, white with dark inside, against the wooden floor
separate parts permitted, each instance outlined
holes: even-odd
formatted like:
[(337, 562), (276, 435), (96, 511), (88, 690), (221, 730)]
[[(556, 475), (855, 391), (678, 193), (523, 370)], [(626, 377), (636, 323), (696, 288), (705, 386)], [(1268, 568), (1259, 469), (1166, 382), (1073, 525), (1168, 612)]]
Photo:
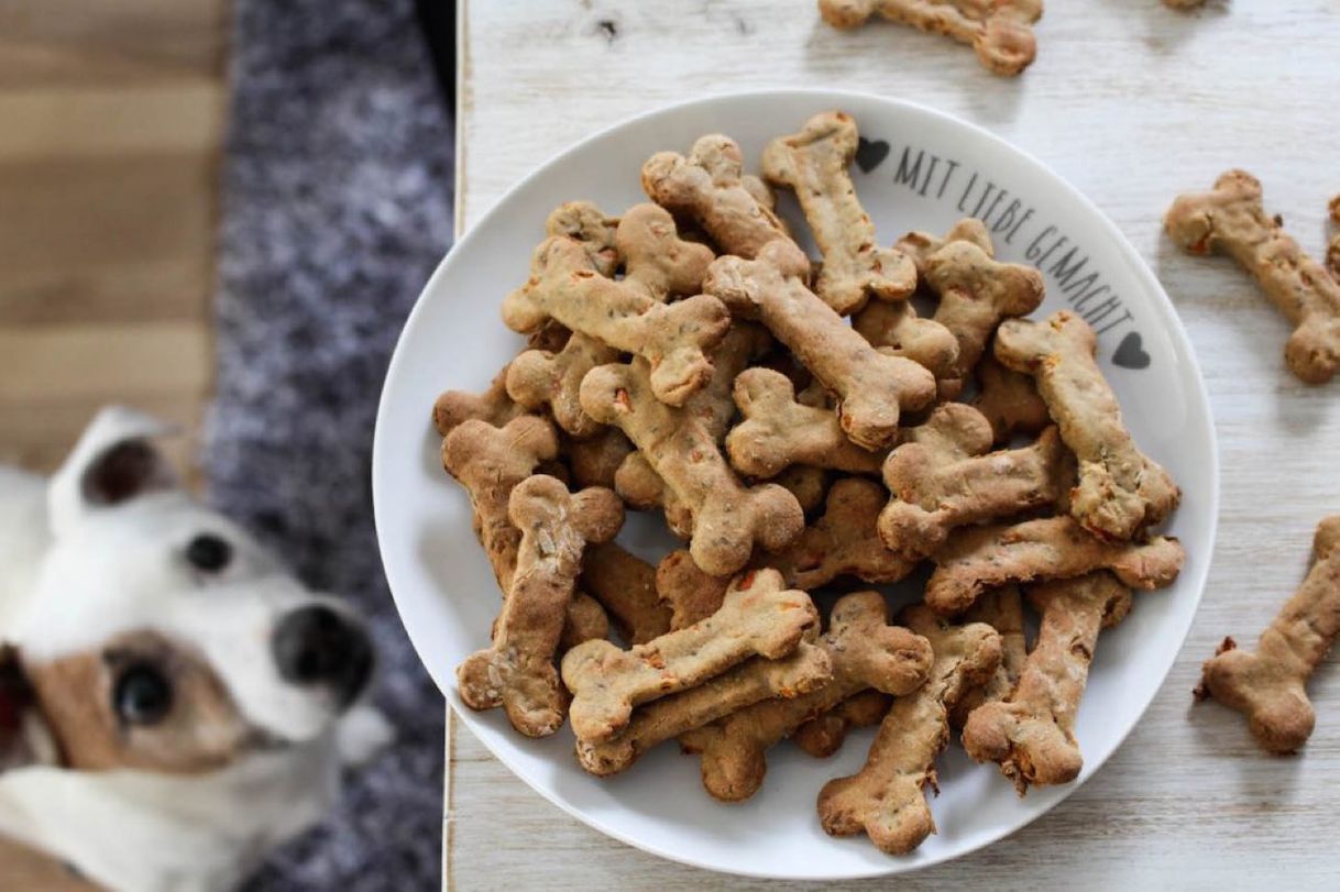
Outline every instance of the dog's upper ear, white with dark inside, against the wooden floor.
[(170, 425), (131, 408), (109, 406), (99, 411), (51, 478), (47, 498), (52, 533), (59, 536), (90, 510), (176, 488), (177, 474), (151, 442), (172, 433)]

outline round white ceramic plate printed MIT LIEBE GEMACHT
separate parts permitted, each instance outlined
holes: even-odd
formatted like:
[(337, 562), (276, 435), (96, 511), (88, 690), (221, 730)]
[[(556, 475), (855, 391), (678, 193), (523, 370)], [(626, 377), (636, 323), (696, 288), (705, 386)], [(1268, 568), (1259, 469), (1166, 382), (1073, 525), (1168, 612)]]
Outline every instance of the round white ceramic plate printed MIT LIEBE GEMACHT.
[[(662, 746), (627, 773), (598, 779), (572, 755), (564, 729), (525, 739), (501, 710), (462, 709), (456, 666), (488, 642), (498, 592), (470, 532), (465, 493), (441, 469), (429, 413), (440, 391), (484, 388), (521, 339), (498, 316), (503, 296), (527, 277), (544, 218), (587, 198), (610, 213), (643, 201), (638, 174), (662, 149), (687, 151), (701, 134), (726, 133), (756, 163), (766, 141), (795, 133), (823, 110), (855, 115), (863, 134), (858, 192), (884, 244), (909, 229), (943, 232), (963, 216), (994, 230), (997, 254), (1034, 263), (1047, 277), (1038, 315), (1063, 307), (1100, 332), (1103, 370), (1136, 441), (1185, 490), (1171, 532), (1187, 550), (1174, 587), (1136, 596), (1135, 611), (1103, 636), (1079, 714), (1079, 781), (1018, 800), (994, 766), (973, 765), (955, 745), (942, 757), (939, 828), (913, 854), (888, 857), (864, 837), (831, 838), (815, 796), (858, 770), (871, 731), (833, 758), (791, 746), (769, 754), (762, 790), (721, 805), (702, 789), (695, 758)], [(793, 229), (805, 232), (787, 205)], [(461, 721), (489, 750), (565, 812), (610, 836), (714, 871), (848, 879), (898, 873), (972, 852), (1024, 826), (1107, 761), (1172, 666), (1201, 599), (1218, 514), (1218, 457), (1205, 386), (1186, 332), (1154, 275), (1116, 228), (1037, 161), (974, 126), (904, 102), (832, 91), (773, 91), (690, 102), (599, 133), (509, 192), (448, 254), (419, 297), (391, 360), (373, 458), (377, 528), (405, 627)], [(655, 559), (669, 538), (636, 518), (620, 541)]]

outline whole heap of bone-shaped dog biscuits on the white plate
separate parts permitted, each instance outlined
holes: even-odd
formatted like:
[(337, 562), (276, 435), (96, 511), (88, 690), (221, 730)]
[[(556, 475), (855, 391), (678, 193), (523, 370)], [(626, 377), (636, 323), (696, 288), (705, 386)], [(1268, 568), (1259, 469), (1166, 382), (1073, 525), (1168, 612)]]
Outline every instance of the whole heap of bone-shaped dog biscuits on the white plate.
[[(434, 422), (504, 595), (457, 672), (469, 707), (529, 737), (568, 719), (596, 775), (677, 739), (724, 801), (761, 788), (769, 747), (823, 757), (878, 723), (819, 818), (906, 853), (935, 830), (951, 729), (1021, 794), (1079, 774), (1097, 638), (1182, 568), (1155, 532), (1181, 492), (1123, 425), (1093, 331), (1025, 319), (1041, 276), (997, 261), (981, 222), (880, 246), (856, 146), (850, 115), (820, 114), (758, 178), (709, 135), (647, 159), (649, 204), (560, 206), (503, 304), (528, 348)], [(628, 553), (624, 510), (685, 548)], [(890, 617), (870, 587), (927, 561), (923, 601)]]

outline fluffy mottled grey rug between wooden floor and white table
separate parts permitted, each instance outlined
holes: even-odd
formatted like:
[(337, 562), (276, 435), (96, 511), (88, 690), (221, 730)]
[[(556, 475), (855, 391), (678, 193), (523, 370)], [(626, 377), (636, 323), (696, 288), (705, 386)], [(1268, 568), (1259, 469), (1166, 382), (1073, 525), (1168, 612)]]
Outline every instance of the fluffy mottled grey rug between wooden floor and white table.
[(233, 12), (210, 498), (373, 617), (398, 734), (248, 888), (437, 888), (442, 700), (386, 589), (368, 455), (395, 336), (450, 242), (450, 113), (411, 0)]

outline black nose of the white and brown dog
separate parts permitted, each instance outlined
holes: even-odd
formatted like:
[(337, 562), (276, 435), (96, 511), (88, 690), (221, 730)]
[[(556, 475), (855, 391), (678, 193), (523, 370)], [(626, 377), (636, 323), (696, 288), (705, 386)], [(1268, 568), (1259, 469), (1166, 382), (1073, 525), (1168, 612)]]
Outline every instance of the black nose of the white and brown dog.
[(324, 684), (348, 704), (373, 670), (367, 634), (328, 607), (314, 604), (285, 616), (271, 643), (285, 682)]

